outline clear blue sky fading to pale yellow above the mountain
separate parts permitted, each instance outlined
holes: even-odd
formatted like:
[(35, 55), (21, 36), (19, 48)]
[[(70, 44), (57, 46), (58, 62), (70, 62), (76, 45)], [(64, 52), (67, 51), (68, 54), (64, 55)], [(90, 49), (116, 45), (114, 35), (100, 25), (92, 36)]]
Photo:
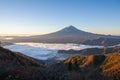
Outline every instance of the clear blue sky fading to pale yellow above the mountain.
[(120, 35), (120, 0), (0, 0), (0, 34), (46, 34), (69, 25)]

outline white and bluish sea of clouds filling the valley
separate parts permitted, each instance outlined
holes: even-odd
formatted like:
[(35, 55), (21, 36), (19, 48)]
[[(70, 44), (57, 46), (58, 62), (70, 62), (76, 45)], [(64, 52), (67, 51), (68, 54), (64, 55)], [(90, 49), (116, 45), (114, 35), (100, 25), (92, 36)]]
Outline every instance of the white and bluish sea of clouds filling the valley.
[(40, 60), (48, 60), (48, 59), (57, 59), (63, 60), (69, 56), (70, 54), (58, 54), (58, 50), (82, 50), (86, 48), (102, 48), (102, 46), (90, 46), (90, 45), (82, 45), (82, 44), (50, 44), (50, 43), (16, 43), (14, 45), (4, 46), (7, 49), (12, 51), (21, 52), (27, 56), (40, 59)]

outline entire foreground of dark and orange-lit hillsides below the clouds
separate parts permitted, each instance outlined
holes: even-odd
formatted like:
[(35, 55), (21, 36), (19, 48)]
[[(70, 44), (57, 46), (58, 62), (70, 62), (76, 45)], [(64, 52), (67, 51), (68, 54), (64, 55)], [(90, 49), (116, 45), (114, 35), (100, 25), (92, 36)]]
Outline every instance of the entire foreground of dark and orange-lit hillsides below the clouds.
[(76, 55), (49, 67), (0, 47), (0, 80), (120, 80), (120, 47), (110, 54)]

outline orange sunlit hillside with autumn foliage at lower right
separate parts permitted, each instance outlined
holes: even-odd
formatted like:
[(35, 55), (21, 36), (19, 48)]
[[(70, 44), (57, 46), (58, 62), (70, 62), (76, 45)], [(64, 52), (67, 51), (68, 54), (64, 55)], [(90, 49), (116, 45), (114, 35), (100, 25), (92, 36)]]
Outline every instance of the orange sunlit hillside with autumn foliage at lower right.
[(120, 53), (73, 56), (50, 69), (63, 71), (70, 80), (120, 80)]

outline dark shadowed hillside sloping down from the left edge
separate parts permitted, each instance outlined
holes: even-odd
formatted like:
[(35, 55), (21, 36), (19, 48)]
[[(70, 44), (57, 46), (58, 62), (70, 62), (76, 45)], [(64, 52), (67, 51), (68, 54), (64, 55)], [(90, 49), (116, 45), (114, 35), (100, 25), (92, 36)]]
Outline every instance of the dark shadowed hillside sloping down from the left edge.
[(0, 80), (46, 80), (44, 65), (0, 47)]

